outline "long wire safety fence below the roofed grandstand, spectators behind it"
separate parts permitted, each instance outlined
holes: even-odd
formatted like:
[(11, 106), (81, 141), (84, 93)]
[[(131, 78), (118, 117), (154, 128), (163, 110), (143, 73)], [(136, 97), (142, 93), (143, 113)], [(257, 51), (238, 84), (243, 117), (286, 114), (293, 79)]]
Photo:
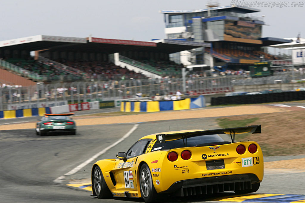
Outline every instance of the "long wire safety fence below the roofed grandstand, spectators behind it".
[(136, 97), (172, 95), (180, 90), (185, 95), (204, 95), (233, 91), (232, 78), (213, 77), (186, 79), (185, 92), (181, 78), (132, 79), (90, 82), (67, 82), (19, 87), (0, 88), (0, 110), (54, 107), (69, 103), (125, 100)]

